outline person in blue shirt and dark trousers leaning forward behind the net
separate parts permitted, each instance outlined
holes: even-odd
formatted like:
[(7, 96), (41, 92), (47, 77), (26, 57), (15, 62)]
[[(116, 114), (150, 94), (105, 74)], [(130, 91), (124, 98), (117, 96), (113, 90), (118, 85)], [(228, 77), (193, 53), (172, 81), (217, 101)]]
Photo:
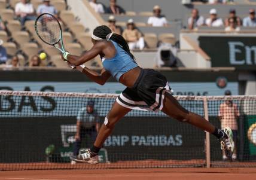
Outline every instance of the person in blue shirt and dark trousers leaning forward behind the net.
[[(75, 144), (74, 144), (74, 155), (78, 155), (78, 152), (81, 148), (82, 140), (86, 135), (89, 135), (92, 141), (94, 142), (99, 132), (99, 116), (97, 111), (94, 108), (95, 102), (90, 100), (87, 103), (87, 106), (81, 108), (77, 115), (77, 133), (75, 134)], [(71, 164), (75, 162), (71, 161)], [(89, 162), (87, 162), (89, 163)], [(89, 164), (96, 164), (98, 160), (90, 160)]]

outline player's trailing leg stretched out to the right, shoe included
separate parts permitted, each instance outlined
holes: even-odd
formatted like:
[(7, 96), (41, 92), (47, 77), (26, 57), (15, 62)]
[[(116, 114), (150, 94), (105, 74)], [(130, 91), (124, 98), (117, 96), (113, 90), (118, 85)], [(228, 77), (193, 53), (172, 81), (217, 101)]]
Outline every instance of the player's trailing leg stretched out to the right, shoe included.
[(193, 126), (198, 127), (199, 129), (205, 130), (212, 135), (216, 136), (221, 142), (221, 148), (225, 149), (225, 154), (227, 157), (231, 158), (234, 150), (233, 139), (230, 136), (230, 129), (218, 129), (213, 126), (209, 121), (200, 115), (194, 114), (193, 112), (187, 111), (183, 108), (178, 100), (172, 96), (172, 94), (166, 92), (163, 102), (163, 109), (161, 109), (165, 114), (170, 117), (175, 118), (176, 120), (192, 124)]

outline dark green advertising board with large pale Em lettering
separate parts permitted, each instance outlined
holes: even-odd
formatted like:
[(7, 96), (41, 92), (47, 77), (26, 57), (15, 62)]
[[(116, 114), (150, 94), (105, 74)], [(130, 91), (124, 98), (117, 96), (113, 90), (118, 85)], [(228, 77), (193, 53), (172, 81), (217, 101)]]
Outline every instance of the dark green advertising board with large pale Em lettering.
[(256, 69), (256, 37), (200, 36), (199, 43), (212, 67)]

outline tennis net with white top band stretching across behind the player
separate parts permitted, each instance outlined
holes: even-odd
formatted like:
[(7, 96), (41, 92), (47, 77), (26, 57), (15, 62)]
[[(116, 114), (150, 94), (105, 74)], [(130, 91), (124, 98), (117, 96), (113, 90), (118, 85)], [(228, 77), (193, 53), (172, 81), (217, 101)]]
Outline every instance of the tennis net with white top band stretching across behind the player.
[[(97, 123), (103, 123), (117, 96), (0, 91), (0, 170), (256, 167), (256, 96), (176, 96), (182, 106), (217, 127), (223, 123), (220, 116), (227, 119), (233, 113), (225, 103), (236, 105), (239, 138), (232, 163), (223, 161), (215, 137), (162, 112), (137, 110), (116, 124), (98, 164), (71, 162), (70, 155), (92, 146)], [(81, 127), (76, 136), (77, 121)]]

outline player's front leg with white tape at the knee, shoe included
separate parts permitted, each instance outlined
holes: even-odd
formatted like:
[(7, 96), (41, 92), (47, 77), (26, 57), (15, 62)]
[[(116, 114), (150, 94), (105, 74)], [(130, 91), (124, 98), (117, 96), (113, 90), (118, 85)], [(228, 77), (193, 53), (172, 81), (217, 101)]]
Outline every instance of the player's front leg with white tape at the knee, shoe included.
[(97, 155), (106, 138), (114, 130), (115, 124), (124, 117), (128, 112), (132, 109), (125, 108), (124, 106), (119, 105), (116, 101), (112, 105), (111, 110), (105, 118), (104, 123), (100, 127), (99, 133), (97, 135), (96, 141), (92, 148), (90, 148), (87, 152), (77, 155), (76, 157), (71, 157), (71, 160), (78, 162), (87, 162), (90, 158), (93, 158)]

